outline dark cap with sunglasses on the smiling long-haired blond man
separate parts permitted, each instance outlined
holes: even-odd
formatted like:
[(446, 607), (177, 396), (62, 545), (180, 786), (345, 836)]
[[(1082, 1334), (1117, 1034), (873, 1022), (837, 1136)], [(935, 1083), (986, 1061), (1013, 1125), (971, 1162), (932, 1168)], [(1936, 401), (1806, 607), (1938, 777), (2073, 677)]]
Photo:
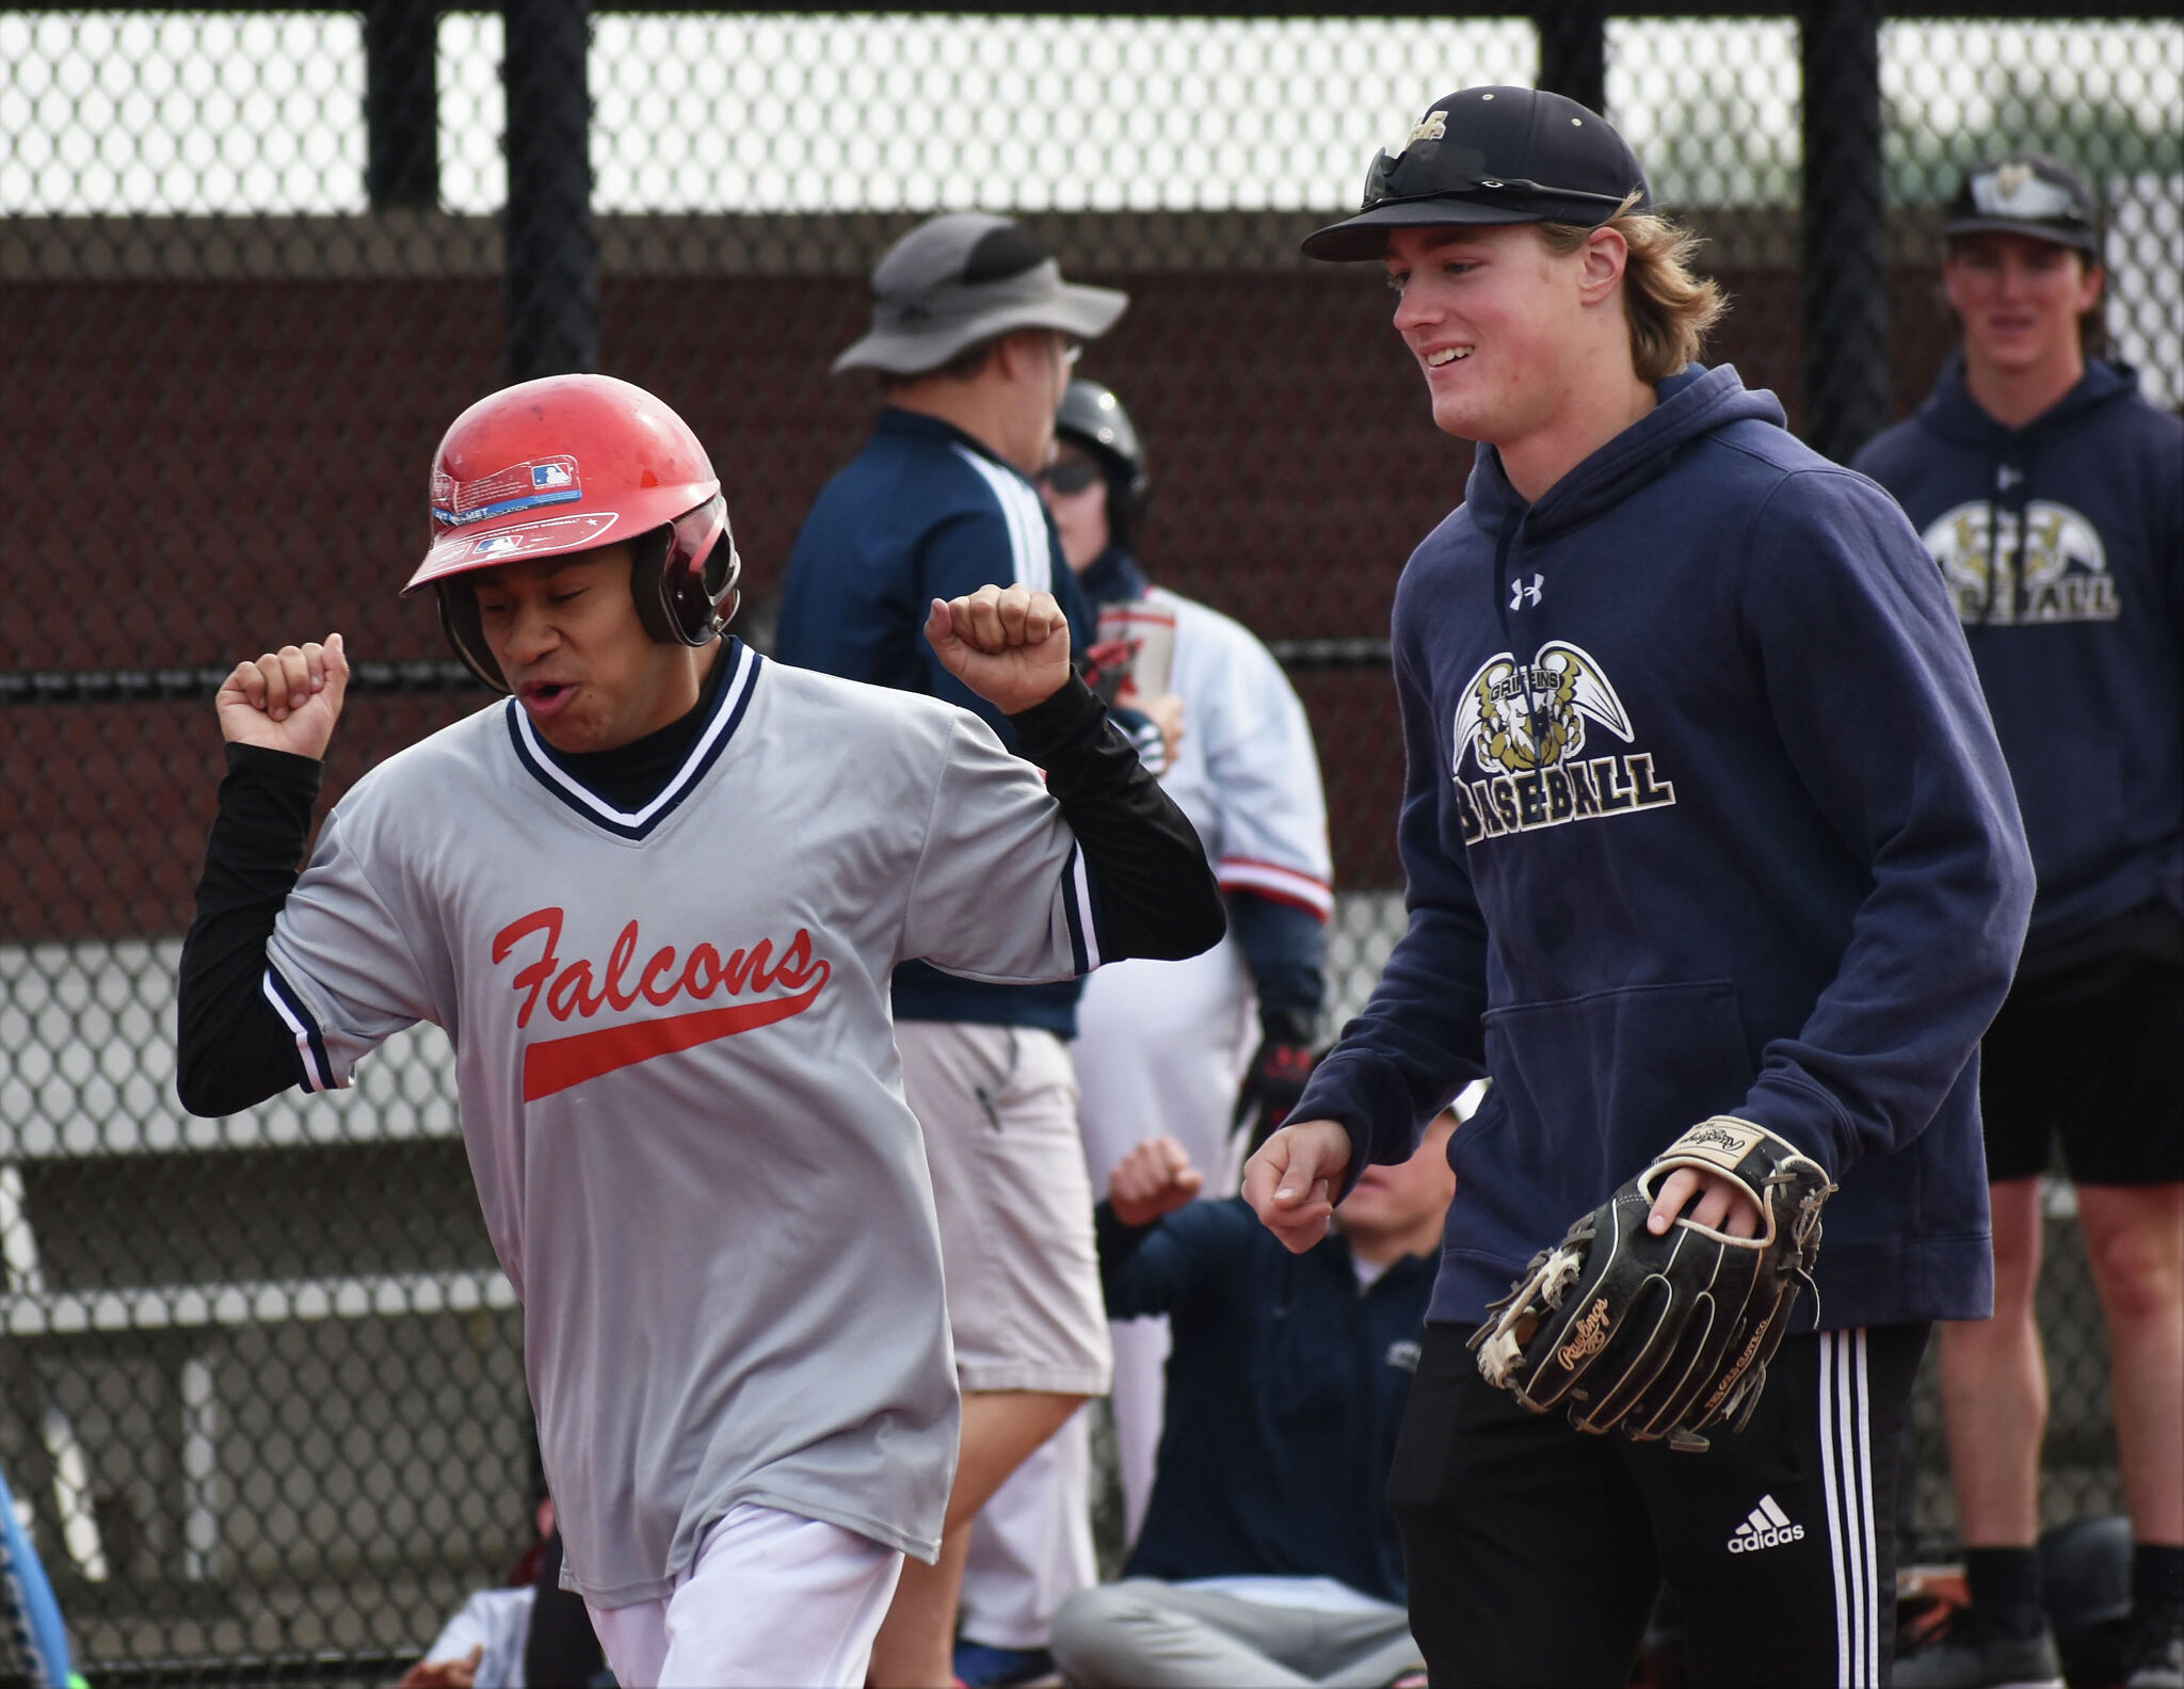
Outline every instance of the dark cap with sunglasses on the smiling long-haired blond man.
[(1382, 258), (1389, 229), (1433, 223), (1597, 227), (1631, 194), (1631, 210), (1653, 208), (1638, 155), (1599, 111), (1542, 87), (1465, 87), (1372, 162), (1358, 214), (1308, 234), (1304, 256)]

